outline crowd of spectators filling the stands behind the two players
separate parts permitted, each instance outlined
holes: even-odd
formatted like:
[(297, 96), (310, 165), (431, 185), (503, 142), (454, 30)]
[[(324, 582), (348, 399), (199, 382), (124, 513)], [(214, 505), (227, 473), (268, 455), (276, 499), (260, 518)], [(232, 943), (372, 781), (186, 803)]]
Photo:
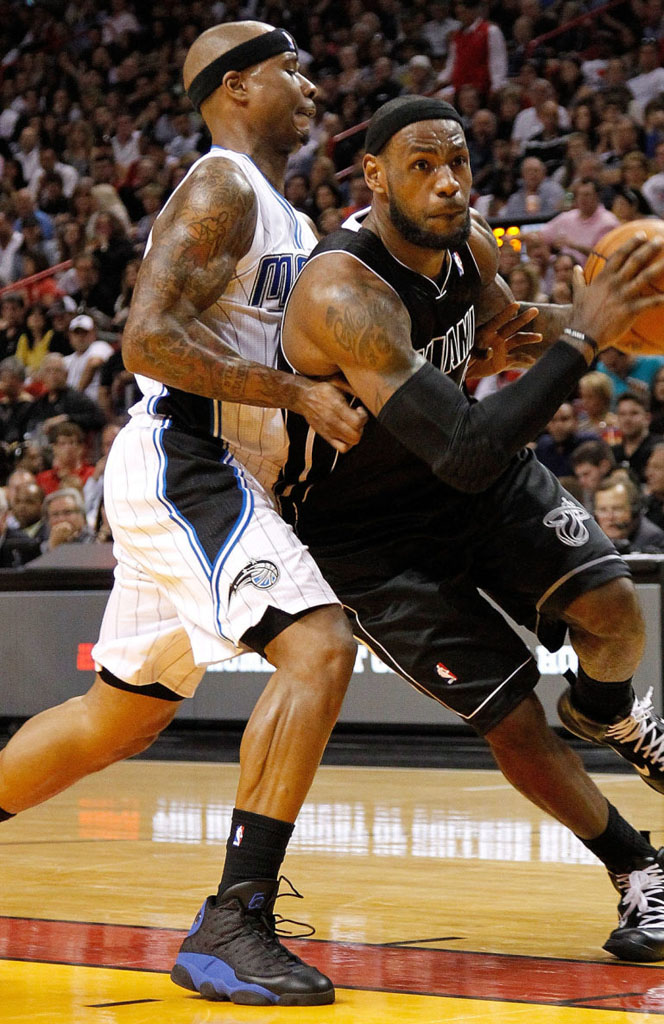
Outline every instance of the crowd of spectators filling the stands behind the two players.
[[(362, 126), (409, 93), (461, 113), (472, 205), (521, 225), (499, 239), (520, 300), (569, 302), (601, 234), (664, 216), (664, 0), (0, 0), (3, 566), (108, 539), (103, 462), (136, 398), (121, 353), (132, 289), (156, 215), (209, 145), (183, 58), (238, 18), (290, 31), (318, 86), (286, 193), (321, 234), (367, 205)], [(593, 439), (634, 474), (623, 399), (646, 397), (655, 442), (634, 485), (655, 517), (663, 362), (608, 353), (534, 439), (572, 481)]]

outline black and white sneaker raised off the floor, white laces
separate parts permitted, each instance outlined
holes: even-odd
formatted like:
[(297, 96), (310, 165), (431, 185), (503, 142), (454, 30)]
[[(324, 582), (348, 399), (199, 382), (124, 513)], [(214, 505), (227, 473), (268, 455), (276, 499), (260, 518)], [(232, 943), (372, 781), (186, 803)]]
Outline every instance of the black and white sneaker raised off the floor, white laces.
[(561, 696), (557, 711), (566, 729), (599, 746), (611, 746), (634, 766), (644, 782), (664, 794), (664, 720), (655, 714), (652, 695), (651, 686), (645, 697), (634, 697), (626, 718), (608, 724), (575, 708), (571, 689)]

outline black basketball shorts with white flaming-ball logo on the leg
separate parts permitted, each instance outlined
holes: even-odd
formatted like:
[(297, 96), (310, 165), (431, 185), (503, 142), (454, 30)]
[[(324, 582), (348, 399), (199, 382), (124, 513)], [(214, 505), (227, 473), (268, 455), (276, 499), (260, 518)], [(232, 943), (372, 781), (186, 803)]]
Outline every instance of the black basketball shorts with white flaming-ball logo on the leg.
[(392, 525), (385, 541), (382, 516), (383, 540), (372, 544), (371, 524), (361, 524), (346, 551), (304, 540), (358, 639), (483, 734), (539, 676), (526, 645), (479, 591), (556, 650), (570, 602), (630, 574), (594, 519), (530, 450), (482, 494), (455, 493), (440, 508), (395, 515)]

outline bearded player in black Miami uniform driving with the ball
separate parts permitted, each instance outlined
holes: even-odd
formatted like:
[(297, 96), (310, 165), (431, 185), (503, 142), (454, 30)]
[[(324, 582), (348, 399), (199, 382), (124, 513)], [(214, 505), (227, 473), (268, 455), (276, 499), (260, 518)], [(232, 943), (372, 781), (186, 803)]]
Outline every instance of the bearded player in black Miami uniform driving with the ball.
[(605, 948), (662, 959), (664, 850), (548, 728), (532, 656), (479, 592), (550, 649), (569, 629), (580, 668), (564, 722), (664, 793), (664, 722), (631, 688), (644, 628), (627, 566), (524, 447), (597, 351), (662, 303), (640, 297), (661, 272), (661, 249), (635, 239), (592, 285), (577, 281), (559, 340), (518, 381), (471, 403), (461, 385), (473, 327), (506, 299), (492, 234), (468, 210), (459, 115), (440, 100), (391, 100), (374, 115), (366, 150), (370, 212), (314, 251), (283, 345), (299, 373), (341, 372), (371, 418), (348, 453), (316, 438), (312, 455), (306, 425), (289, 416), (282, 512), (356, 636), (484, 735), (510, 782), (607, 865), (621, 916)]

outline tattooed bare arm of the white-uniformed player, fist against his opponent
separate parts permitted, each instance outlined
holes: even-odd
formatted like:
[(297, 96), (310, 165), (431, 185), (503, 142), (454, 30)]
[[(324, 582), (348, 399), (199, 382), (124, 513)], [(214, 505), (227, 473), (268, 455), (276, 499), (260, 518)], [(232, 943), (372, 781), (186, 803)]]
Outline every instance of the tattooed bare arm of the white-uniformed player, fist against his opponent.
[(301, 413), (340, 451), (364, 423), (332, 384), (243, 358), (201, 321), (249, 251), (256, 199), (242, 171), (206, 161), (157, 219), (123, 337), (125, 366), (169, 387), (248, 406)]

